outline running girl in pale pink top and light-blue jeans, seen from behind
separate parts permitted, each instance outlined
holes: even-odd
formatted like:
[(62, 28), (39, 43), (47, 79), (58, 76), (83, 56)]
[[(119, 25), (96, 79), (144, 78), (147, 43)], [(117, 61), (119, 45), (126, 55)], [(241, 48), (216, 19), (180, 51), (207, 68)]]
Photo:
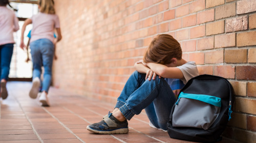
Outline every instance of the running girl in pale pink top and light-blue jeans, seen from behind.
[[(52, 62), (54, 56), (54, 45), (61, 39), (59, 18), (55, 14), (53, 0), (39, 0), (39, 13), (25, 20), (22, 27), (22, 36), (20, 39), (20, 47), (24, 49), (24, 32), (26, 26), (31, 24), (30, 49), (33, 62), (33, 81), (29, 96), (33, 99), (37, 97), (39, 87), (41, 85), (41, 93), (39, 101), (42, 106), (50, 106), (48, 101), (48, 90), (52, 79)], [(54, 38), (54, 30), (57, 38)], [(41, 66), (44, 66), (44, 80), (40, 81)]]

